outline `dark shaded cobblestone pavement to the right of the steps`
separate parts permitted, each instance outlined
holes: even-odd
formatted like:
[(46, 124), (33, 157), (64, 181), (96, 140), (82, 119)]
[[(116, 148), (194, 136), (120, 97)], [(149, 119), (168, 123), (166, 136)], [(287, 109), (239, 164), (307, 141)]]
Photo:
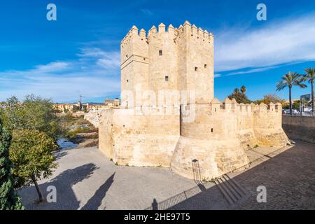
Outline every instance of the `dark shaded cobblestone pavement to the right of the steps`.
[[(295, 146), (252, 167), (235, 181), (251, 197), (237, 209), (315, 209), (315, 144), (296, 141)], [(233, 175), (232, 175), (233, 177)], [(267, 202), (258, 203), (257, 187), (265, 186)]]

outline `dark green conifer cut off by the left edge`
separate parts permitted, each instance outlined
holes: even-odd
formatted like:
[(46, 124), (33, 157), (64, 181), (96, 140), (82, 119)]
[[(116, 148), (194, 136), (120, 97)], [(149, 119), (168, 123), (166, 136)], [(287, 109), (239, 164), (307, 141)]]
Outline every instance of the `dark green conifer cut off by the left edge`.
[(2, 128), (0, 120), (0, 210), (21, 210), (24, 207), (15, 193), (12, 162), (8, 153), (10, 141), (10, 133)]

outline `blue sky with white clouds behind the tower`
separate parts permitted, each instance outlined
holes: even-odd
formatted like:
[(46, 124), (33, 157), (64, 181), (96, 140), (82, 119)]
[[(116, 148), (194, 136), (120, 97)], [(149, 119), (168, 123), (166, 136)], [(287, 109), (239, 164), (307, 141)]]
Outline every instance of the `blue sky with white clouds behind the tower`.
[[(57, 21), (46, 20), (55, 3)], [(256, 20), (265, 3), (267, 21)], [(288, 71), (315, 67), (315, 1), (29, 0), (0, 3), (0, 101), (34, 93), (55, 102), (102, 102), (120, 93), (120, 41), (136, 25), (185, 20), (215, 36), (215, 96), (246, 85), (252, 100)], [(310, 92), (293, 89), (293, 98)]]

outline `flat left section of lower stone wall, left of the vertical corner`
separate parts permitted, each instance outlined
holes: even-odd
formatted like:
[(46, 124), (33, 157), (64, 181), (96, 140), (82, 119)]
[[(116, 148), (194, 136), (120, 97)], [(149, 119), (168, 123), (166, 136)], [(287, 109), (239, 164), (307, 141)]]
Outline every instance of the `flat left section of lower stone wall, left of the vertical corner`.
[(179, 113), (144, 116), (135, 110), (104, 111), (99, 150), (119, 165), (169, 167), (179, 139)]

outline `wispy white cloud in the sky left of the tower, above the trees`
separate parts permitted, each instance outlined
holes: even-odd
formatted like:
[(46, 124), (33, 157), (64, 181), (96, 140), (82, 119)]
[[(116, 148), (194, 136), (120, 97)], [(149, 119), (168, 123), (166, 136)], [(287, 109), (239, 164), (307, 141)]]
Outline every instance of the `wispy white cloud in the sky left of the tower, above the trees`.
[(105, 97), (120, 92), (117, 52), (98, 48), (81, 50), (78, 61), (50, 62), (24, 71), (0, 72), (0, 101), (12, 95), (22, 99), (27, 94), (52, 98), (55, 102), (73, 102)]

